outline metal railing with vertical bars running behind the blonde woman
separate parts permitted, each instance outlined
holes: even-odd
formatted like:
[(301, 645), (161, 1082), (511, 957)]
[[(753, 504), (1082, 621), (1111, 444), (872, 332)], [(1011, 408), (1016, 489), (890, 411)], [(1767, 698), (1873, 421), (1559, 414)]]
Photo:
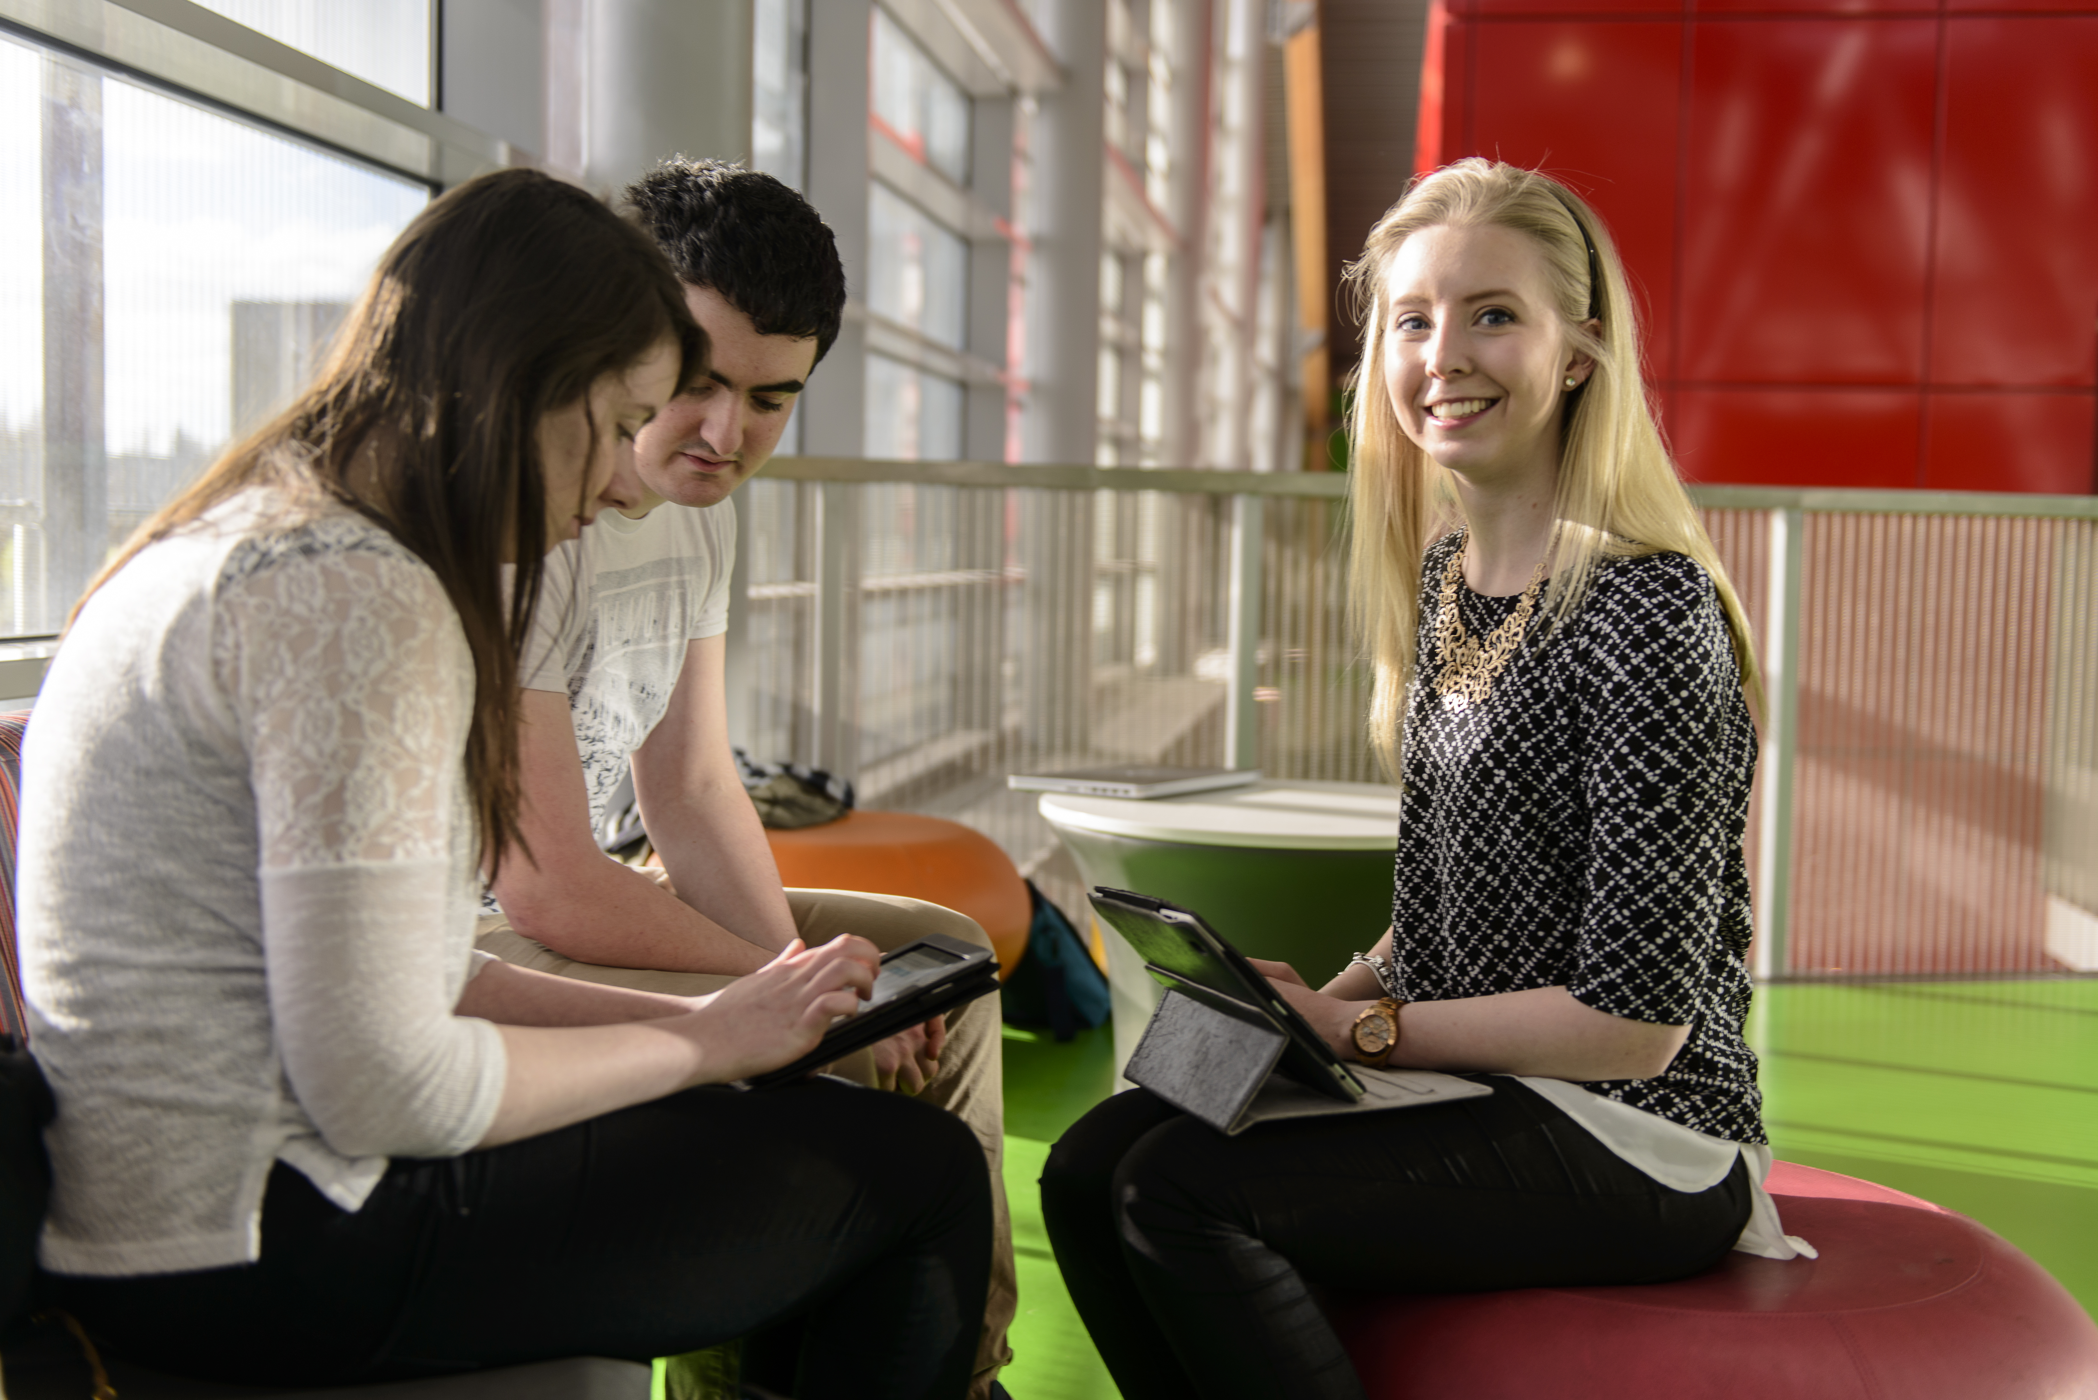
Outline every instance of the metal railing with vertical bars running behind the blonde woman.
[[(780, 458), (738, 495), (732, 726), (1076, 898), (1005, 775), (1378, 781), (1343, 474)], [(1771, 695), (1762, 976), (2098, 970), (2098, 500), (1697, 487)]]

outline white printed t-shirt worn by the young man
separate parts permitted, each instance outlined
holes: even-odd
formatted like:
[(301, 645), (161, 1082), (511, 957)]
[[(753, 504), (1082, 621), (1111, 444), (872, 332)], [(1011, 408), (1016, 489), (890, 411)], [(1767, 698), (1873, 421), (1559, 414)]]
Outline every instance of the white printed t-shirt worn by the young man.
[(602, 512), (548, 554), (518, 665), (527, 691), (569, 697), (592, 829), (627, 760), (669, 709), (686, 642), (728, 630), (736, 512), (663, 504)]

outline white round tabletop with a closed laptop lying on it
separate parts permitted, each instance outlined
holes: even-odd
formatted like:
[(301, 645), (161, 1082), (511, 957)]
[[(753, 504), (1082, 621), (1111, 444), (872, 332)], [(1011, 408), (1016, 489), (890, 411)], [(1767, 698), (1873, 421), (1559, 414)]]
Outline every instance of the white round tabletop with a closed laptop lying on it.
[(1253, 783), (1185, 798), (1043, 793), (1051, 827), (1187, 846), (1397, 850), (1399, 791), (1385, 783)]

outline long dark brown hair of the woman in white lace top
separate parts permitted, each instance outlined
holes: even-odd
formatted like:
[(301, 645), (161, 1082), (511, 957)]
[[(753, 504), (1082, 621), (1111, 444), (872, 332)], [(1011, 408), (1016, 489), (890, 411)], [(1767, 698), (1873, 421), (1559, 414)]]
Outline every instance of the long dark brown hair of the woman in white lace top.
[(684, 357), (680, 384), (703, 369), (705, 334), (646, 233), (535, 170), (468, 181), (386, 250), (313, 386), (141, 525), (82, 604), (138, 550), (250, 487), (292, 510), (334, 497), (361, 512), (459, 613), (474, 657), (466, 783), (493, 875), (520, 842), (518, 649), (548, 552), (537, 424), (577, 401), (587, 413), (600, 376), (663, 340)]

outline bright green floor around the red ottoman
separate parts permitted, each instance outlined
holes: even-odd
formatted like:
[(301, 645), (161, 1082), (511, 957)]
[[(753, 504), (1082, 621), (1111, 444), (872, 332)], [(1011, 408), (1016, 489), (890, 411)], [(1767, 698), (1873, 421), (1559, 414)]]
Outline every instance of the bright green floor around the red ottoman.
[[(2098, 980), (1783, 984), (1756, 993), (1764, 1119), (1785, 1161), (1983, 1222), (2098, 1316)], [(1020, 1251), (1013, 1400), (1114, 1400), (1043, 1236), (1049, 1144), (1112, 1087), (1106, 1028), (1005, 1033)]]

